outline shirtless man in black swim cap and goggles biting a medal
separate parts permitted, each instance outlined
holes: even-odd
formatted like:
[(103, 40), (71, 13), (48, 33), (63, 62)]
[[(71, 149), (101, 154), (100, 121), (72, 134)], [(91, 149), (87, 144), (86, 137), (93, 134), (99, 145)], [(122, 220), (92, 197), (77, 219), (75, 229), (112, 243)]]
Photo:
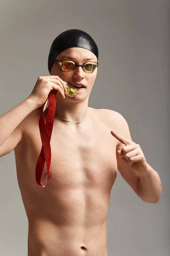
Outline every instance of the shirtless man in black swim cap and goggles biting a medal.
[[(51, 59), (56, 53), (55, 47), (51, 48), (51, 76), (40, 77), (27, 99), (0, 116), (0, 157), (14, 149), (28, 217), (28, 256), (107, 256), (106, 217), (117, 169), (147, 203), (159, 201), (161, 180), (139, 144), (132, 141), (125, 118), (116, 111), (88, 107), (97, 67), (92, 73), (86, 72), (91, 65), (86, 70), (75, 66), (65, 72), (54, 61), (97, 63), (95, 42), (80, 30), (69, 30), (59, 38), (55, 47), (66, 42), (65, 50), (59, 49)], [(64, 81), (84, 87), (78, 89), (77, 96), (69, 97), (64, 93)], [(57, 105), (51, 167), (48, 184), (42, 187), (35, 180), (42, 147), (38, 122), (52, 89), (57, 90)]]

